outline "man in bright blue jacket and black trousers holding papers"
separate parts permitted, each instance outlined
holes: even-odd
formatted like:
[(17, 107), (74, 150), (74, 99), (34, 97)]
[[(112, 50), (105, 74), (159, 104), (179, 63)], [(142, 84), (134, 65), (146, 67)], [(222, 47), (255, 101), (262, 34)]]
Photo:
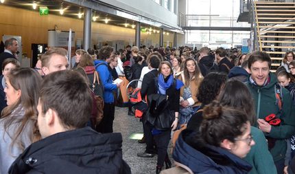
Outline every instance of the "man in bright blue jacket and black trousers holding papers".
[(113, 78), (110, 70), (108, 69), (108, 63), (110, 63), (110, 55), (113, 52), (113, 48), (106, 45), (99, 50), (99, 60), (94, 61), (95, 69), (99, 73), (99, 77), (104, 85), (104, 118), (98, 125), (97, 131), (101, 133), (113, 132), (113, 121), (115, 119), (115, 101), (113, 91), (117, 91), (120, 84), (113, 84)]

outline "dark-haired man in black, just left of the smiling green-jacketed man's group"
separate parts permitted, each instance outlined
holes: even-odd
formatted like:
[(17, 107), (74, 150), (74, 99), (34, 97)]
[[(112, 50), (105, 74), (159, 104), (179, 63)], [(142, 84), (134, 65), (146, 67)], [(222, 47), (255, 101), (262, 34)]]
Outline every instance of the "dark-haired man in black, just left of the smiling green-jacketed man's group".
[(225, 72), (228, 74), (228, 72), (233, 68), (233, 64), (228, 61), (226, 56), (226, 50), (223, 47), (217, 48), (215, 51), (215, 58), (218, 63), (218, 67), (220, 72)]

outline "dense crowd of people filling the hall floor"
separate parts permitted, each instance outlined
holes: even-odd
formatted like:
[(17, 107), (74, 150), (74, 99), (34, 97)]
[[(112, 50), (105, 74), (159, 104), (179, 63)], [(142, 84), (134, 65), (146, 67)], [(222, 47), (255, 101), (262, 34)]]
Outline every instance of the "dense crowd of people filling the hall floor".
[(105, 45), (72, 61), (51, 47), (34, 69), (20, 67), (17, 48), (8, 39), (0, 54), (0, 173), (131, 173), (113, 133), (119, 76), (139, 79), (137, 156), (156, 155), (156, 174), (295, 172), (293, 52), (274, 74), (265, 52), (222, 47)]

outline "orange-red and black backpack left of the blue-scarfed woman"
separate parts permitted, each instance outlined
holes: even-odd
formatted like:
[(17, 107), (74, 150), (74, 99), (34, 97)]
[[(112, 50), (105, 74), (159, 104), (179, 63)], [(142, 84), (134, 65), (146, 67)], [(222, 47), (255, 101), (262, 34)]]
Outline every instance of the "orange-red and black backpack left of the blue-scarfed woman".
[(142, 118), (143, 112), (147, 109), (147, 103), (141, 98), (141, 89), (136, 88), (130, 96), (130, 103), (134, 107), (135, 118)]

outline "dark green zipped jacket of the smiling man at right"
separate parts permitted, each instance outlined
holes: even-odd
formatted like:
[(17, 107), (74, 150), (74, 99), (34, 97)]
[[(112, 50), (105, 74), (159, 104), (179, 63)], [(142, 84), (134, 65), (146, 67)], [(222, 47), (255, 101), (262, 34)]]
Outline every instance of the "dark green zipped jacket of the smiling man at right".
[(246, 85), (248, 85), (252, 97), (255, 100), (257, 119), (265, 119), (270, 113), (276, 114), (276, 117), (281, 119), (279, 126), (272, 126), (270, 133), (264, 133), (264, 135), (276, 139), (274, 147), (270, 150), (272, 157), (274, 157), (274, 162), (276, 162), (285, 159), (287, 149), (285, 139), (290, 138), (295, 133), (295, 112), (290, 93), (287, 89), (283, 88), (283, 107), (282, 113), (280, 114), (275, 97), (276, 76), (272, 73), (269, 76), (270, 83), (264, 87), (254, 85), (250, 83), (250, 80), (248, 80)]

